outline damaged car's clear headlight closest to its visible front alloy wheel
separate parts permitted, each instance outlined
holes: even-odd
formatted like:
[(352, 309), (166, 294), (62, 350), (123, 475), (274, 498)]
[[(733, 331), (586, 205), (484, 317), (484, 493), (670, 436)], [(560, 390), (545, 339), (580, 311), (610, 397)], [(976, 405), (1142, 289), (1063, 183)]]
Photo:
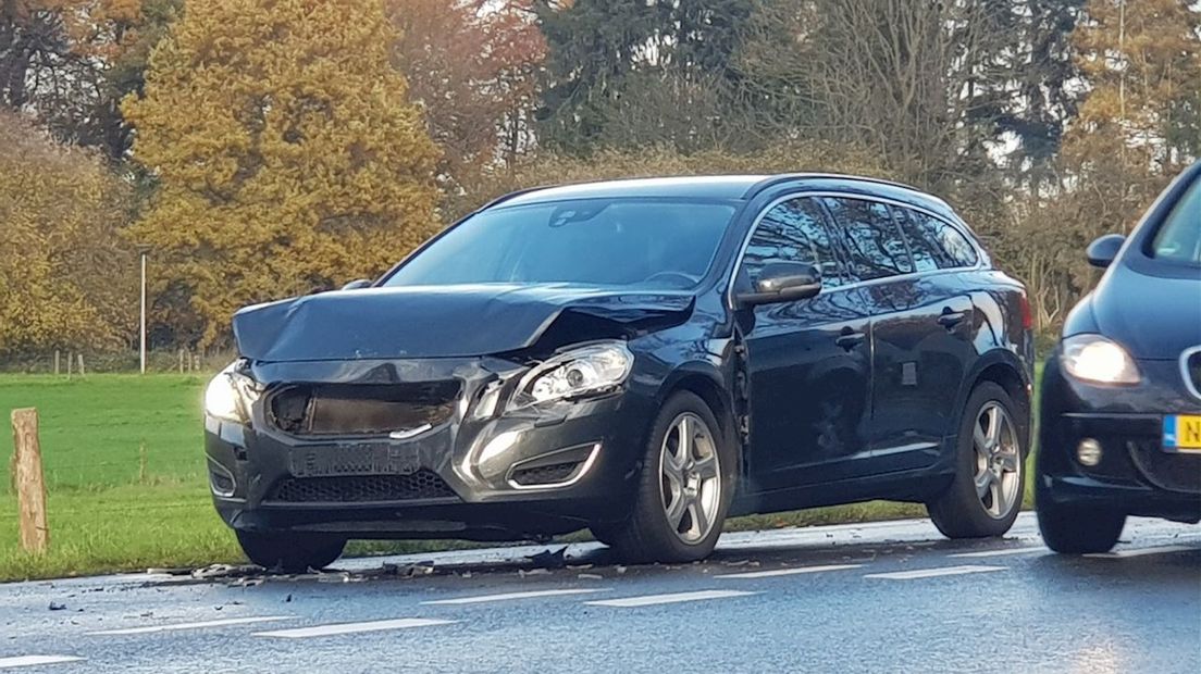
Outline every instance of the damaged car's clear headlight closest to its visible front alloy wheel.
[(634, 367), (625, 342), (580, 347), (546, 360), (518, 385), (510, 408), (578, 398), (621, 386)]

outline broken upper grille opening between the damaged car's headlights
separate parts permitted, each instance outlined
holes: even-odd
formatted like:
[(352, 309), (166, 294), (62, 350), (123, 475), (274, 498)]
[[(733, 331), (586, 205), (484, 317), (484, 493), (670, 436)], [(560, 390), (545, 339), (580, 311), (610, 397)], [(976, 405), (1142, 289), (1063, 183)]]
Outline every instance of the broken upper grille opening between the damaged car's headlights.
[(446, 422), (459, 391), (458, 381), (297, 385), (271, 393), (267, 409), (292, 435), (388, 435)]

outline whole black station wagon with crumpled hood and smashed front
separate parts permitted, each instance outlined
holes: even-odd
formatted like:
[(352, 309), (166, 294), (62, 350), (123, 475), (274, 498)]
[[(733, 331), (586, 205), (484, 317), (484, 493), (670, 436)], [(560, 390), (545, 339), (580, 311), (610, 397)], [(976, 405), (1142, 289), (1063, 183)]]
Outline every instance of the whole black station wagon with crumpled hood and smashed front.
[(585, 528), (686, 561), (735, 514), (894, 499), (966, 537), (1021, 508), (1026, 291), (945, 203), (889, 182), (515, 193), (374, 282), (233, 327), (209, 477), (267, 567)]

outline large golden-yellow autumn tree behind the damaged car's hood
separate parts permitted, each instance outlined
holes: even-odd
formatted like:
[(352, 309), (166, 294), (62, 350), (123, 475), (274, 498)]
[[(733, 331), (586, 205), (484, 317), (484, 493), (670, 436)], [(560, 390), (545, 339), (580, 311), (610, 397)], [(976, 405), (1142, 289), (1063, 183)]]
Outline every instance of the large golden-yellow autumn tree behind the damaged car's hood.
[(123, 109), (160, 187), (130, 239), (201, 341), (241, 305), (371, 276), (437, 229), (438, 151), (382, 0), (193, 0)]

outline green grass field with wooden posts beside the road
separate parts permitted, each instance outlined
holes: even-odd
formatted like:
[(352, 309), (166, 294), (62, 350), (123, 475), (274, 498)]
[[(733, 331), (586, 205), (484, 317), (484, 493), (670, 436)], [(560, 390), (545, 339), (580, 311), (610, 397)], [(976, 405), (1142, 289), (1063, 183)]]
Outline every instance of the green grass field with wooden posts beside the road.
[[(4, 481), (0, 580), (239, 561), (233, 536), (209, 499), (199, 419), (204, 383), (201, 377), (173, 374), (92, 374), (70, 381), (0, 375), (0, 413), (38, 409), (50, 523), (47, 554), (20, 552), (16, 498), (10, 481)], [(11, 437), (0, 435), (5, 438), (0, 450), (11, 456)], [(1030, 503), (1027, 494), (1027, 506)], [(922, 514), (921, 506), (871, 503), (746, 517), (727, 529)], [(450, 544), (357, 543), (351, 553)]]

